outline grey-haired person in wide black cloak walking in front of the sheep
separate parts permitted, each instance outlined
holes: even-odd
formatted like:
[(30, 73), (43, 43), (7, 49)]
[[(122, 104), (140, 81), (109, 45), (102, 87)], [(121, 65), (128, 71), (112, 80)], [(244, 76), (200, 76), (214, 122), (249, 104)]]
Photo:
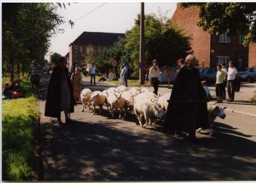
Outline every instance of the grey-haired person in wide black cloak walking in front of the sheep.
[(191, 139), (196, 138), (196, 129), (207, 127), (208, 118), (206, 93), (195, 63), (195, 56), (189, 54), (173, 84), (163, 127), (173, 135), (187, 132)]

